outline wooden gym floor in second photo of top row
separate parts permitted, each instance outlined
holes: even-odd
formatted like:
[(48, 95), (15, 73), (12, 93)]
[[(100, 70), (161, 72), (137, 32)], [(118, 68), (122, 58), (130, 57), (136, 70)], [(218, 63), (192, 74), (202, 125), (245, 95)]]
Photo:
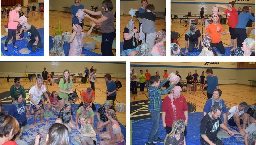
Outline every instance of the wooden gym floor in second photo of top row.
[[(53, 10), (49, 11), (49, 35), (52, 36), (52, 37), (55, 36), (54, 30), (57, 29), (59, 21), (60, 21), (61, 30), (63, 30), (63, 33), (64, 32), (72, 32), (72, 27), (71, 27), (72, 20), (70, 20), (69, 17), (70, 17), (70, 13), (63, 13), (61, 11), (53, 11)], [(98, 18), (99, 17), (97, 17), (97, 19)], [(88, 18), (84, 19), (84, 25), (85, 24), (90, 25), (90, 20)], [(116, 25), (116, 24), (114, 24), (114, 25)], [(84, 26), (83, 32), (87, 33), (89, 29), (90, 29), (89, 27)], [(95, 31), (95, 29), (93, 29), (90, 36), (95, 36), (95, 35), (101, 36), (102, 32), (100, 30)], [(83, 39), (84, 43), (86, 43), (88, 41), (96, 42), (97, 46), (96, 46), (95, 50), (91, 50), (91, 51), (101, 54), (101, 51), (100, 51), (101, 43), (92, 39), (92, 38), (90, 38), (90, 37), (86, 37), (85, 39)], [(112, 48), (112, 52), (116, 56), (115, 49)]]

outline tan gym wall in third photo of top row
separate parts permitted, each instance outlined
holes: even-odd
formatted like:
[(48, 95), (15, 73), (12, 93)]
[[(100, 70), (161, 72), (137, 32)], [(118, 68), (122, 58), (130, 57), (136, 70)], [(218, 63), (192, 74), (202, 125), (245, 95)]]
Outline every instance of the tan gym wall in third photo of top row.
[[(165, 0), (148, 0), (148, 4), (155, 6), (154, 12), (164, 12), (166, 8)], [(124, 11), (124, 15), (129, 15), (131, 8), (139, 10), (142, 7), (141, 0), (121, 0), (120, 5), (120, 10)]]

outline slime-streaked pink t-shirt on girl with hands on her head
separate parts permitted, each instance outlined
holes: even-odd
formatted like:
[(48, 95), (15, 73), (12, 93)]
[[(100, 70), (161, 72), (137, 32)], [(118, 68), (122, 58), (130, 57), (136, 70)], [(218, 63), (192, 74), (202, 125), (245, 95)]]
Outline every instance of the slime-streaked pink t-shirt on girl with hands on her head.
[(74, 40), (70, 43), (70, 49), (68, 56), (80, 56), (82, 54), (83, 38), (86, 37), (86, 33), (81, 32), (82, 37), (75, 36)]

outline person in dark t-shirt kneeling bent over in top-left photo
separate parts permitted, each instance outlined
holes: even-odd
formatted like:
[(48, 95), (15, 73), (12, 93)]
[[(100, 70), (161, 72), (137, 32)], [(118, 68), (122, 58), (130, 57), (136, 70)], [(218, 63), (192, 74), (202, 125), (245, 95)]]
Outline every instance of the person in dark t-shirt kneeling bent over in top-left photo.
[(25, 23), (22, 25), (22, 29), (27, 30), (28, 36), (30, 37), (27, 47), (32, 47), (33, 52), (36, 52), (36, 50), (39, 48), (43, 48), (43, 44), (41, 43), (41, 36), (36, 27)]

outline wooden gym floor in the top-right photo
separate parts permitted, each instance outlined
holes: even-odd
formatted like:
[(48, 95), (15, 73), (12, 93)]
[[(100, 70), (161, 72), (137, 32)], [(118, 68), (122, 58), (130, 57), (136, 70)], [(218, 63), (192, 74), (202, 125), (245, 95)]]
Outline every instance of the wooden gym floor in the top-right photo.
[[(198, 21), (199, 21), (199, 23), (201, 23), (201, 20), (198, 20)], [(175, 22), (172, 23), (172, 26), (171, 26), (171, 31), (175, 31), (180, 34), (180, 37), (177, 40), (178, 40), (181, 48), (185, 48), (185, 34), (188, 30), (190, 30), (190, 25), (188, 25), (188, 23), (187, 23), (187, 27), (184, 27), (183, 25), (185, 25), (183, 20), (181, 20), (181, 23), (180, 23), (180, 20), (178, 19), (178, 21), (176, 22), (176, 20), (175, 20)], [(228, 24), (222, 25), (222, 27), (223, 27), (224, 32), (229, 31)], [(200, 30), (201, 40), (202, 40), (202, 28), (203, 28), (203, 33), (206, 33), (206, 27), (205, 27), (205, 25), (204, 25), (204, 27), (202, 27), (202, 25), (197, 24), (197, 28), (198, 28), (198, 30)], [(228, 47), (230, 45), (230, 34), (227, 34), (227, 35), (221, 34), (220, 37), (221, 37), (224, 47)], [(255, 39), (255, 36), (253, 36), (252, 38)], [(237, 45), (237, 43), (236, 43), (236, 45)]]

